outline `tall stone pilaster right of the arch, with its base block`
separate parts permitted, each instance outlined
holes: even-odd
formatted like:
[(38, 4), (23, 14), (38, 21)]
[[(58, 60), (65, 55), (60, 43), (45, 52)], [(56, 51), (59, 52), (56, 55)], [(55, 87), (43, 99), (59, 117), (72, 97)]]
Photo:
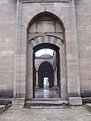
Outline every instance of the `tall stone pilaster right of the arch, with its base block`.
[[(79, 75), (79, 57), (78, 57), (78, 40), (76, 30), (76, 15), (74, 0), (70, 4), (70, 21), (71, 21), (71, 53), (67, 60), (67, 79), (68, 79), (68, 97), (71, 105), (81, 105), (80, 97), (80, 75)], [(67, 50), (69, 51), (69, 49)]]

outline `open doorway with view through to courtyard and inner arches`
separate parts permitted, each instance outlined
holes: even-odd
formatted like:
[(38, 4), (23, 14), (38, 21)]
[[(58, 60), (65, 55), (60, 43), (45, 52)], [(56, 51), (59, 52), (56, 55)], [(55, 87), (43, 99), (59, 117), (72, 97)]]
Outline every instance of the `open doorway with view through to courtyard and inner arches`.
[[(38, 54), (39, 52), (40, 55)], [(59, 48), (49, 43), (40, 44), (34, 47), (34, 54), (33, 54), (34, 55), (33, 56), (34, 57), (33, 58), (34, 98), (52, 99), (52, 98), (61, 97), (60, 60), (58, 53), (59, 53)]]

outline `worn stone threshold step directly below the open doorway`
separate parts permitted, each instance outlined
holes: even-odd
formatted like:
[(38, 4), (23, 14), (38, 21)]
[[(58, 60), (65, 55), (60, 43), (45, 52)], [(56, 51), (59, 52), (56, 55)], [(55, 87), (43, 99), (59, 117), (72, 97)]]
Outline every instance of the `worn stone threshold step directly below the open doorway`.
[(52, 100), (52, 101), (26, 101), (25, 107), (31, 108), (32, 106), (62, 106), (62, 105), (68, 105), (68, 101), (62, 101), (62, 100)]

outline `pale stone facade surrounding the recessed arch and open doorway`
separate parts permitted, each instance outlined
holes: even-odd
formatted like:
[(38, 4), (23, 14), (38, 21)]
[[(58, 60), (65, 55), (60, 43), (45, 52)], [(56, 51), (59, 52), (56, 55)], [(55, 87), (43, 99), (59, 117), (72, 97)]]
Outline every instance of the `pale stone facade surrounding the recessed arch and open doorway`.
[[(28, 44), (29, 23), (45, 12), (64, 25), (63, 46), (46, 39)], [(42, 36), (47, 37), (44, 33)], [(58, 46), (60, 59), (64, 59), (60, 63), (61, 98), (91, 97), (90, 38), (90, 0), (1, 0), (0, 96), (33, 98), (33, 47), (47, 42)]]

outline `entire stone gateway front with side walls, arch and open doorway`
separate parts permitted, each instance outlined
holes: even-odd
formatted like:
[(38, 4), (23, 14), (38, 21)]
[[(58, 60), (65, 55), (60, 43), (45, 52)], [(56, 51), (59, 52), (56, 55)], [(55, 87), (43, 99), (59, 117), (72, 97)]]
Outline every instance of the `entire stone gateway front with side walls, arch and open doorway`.
[(0, 0), (0, 98), (82, 105), (90, 39), (90, 0)]

